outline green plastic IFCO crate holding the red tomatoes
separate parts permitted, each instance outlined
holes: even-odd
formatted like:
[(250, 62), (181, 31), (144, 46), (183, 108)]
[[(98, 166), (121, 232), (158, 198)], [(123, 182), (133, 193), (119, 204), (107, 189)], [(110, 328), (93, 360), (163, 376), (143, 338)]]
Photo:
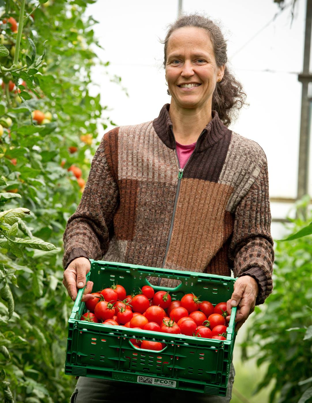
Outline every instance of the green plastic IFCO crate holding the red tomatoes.
[[(147, 276), (175, 278), (181, 281), (176, 288), (153, 288), (155, 291), (170, 290), (172, 300), (192, 292), (201, 295), (202, 301), (208, 300), (216, 305), (230, 298), (236, 280), (134, 264), (91, 259), (90, 262), (87, 281), (94, 282), (94, 292), (118, 283), (130, 293), (138, 291), (138, 287), (150, 285)], [(232, 309), (226, 340), (219, 341), (79, 320), (86, 312), (85, 303), (81, 302), (83, 291), (78, 291), (68, 320), (65, 374), (226, 395), (236, 337), (236, 307)], [(136, 349), (129, 339), (160, 341), (166, 343), (166, 347), (161, 351)]]

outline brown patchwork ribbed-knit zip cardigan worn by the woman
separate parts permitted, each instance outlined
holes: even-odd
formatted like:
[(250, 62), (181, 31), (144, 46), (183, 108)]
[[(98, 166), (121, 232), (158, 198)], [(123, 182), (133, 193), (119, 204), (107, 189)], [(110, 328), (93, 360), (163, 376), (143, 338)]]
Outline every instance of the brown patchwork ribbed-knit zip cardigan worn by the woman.
[(274, 261), (266, 155), (212, 111), (180, 169), (169, 107), (103, 136), (66, 225), (64, 269), (80, 256), (221, 276), (232, 269), (255, 278), (263, 303)]

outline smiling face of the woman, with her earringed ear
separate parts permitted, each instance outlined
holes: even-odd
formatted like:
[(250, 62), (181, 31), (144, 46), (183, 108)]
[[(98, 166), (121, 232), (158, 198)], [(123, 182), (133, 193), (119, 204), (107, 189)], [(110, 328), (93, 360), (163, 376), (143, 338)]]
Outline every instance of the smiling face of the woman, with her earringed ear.
[(211, 108), (212, 94), (217, 80), (223, 77), (224, 66), (217, 66), (205, 29), (184, 27), (170, 35), (165, 71), (170, 94), (178, 107), (200, 108), (210, 103)]

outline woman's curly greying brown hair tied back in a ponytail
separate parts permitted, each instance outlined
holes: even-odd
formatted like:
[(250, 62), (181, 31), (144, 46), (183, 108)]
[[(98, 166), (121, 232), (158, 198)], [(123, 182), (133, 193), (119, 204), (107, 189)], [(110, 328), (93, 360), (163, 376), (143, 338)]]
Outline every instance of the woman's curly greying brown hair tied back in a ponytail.
[(218, 112), (224, 125), (229, 126), (237, 118), (239, 109), (248, 104), (245, 102), (246, 94), (243, 92), (243, 86), (235, 79), (234, 75), (230, 73), (228, 66), (226, 66), (228, 60), (226, 41), (220, 27), (214, 21), (199, 14), (185, 14), (170, 24), (165, 40), (161, 42), (164, 44), (163, 65), (165, 67), (167, 62), (167, 46), (170, 35), (176, 29), (183, 27), (205, 29), (214, 48), (217, 66), (225, 65), (223, 79), (220, 83), (216, 83), (216, 88), (212, 95), (212, 109)]

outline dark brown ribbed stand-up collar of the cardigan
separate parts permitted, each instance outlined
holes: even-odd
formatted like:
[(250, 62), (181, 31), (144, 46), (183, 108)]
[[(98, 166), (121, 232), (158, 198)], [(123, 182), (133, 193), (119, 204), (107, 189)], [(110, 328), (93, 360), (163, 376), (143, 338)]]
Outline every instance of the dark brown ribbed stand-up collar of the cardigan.
[[(169, 148), (174, 149), (174, 136), (172, 135), (172, 121), (169, 116), (170, 104), (165, 104), (159, 113), (158, 118), (153, 120), (153, 127), (163, 143)], [(211, 111), (212, 120), (205, 127), (204, 133), (198, 141), (196, 152), (201, 152), (218, 143), (229, 129), (222, 123), (216, 110)]]

